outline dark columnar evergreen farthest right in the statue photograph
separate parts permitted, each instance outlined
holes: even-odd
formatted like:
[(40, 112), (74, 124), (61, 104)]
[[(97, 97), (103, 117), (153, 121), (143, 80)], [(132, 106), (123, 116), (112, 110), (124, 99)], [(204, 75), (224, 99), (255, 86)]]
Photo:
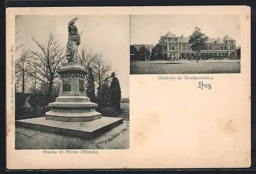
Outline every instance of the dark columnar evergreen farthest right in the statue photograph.
[(115, 73), (111, 74), (112, 82), (110, 85), (110, 94), (111, 94), (111, 105), (115, 107), (116, 110), (120, 110), (121, 104), (121, 89), (119, 80), (116, 77)]

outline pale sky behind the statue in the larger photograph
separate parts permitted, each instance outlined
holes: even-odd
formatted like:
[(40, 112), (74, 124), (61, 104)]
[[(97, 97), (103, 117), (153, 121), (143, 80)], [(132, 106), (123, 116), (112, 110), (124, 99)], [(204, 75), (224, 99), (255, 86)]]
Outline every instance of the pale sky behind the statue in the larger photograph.
[(62, 47), (68, 41), (68, 22), (79, 17), (76, 25), (81, 35), (81, 45), (93, 53), (102, 54), (103, 61), (111, 65), (117, 75), (121, 95), (129, 98), (129, 64), (130, 64), (130, 18), (129, 15), (22, 15), (16, 20), (15, 30), (19, 31), (16, 44), (24, 44), (15, 57), (23, 50), (36, 50), (32, 37), (44, 43), (50, 33)]

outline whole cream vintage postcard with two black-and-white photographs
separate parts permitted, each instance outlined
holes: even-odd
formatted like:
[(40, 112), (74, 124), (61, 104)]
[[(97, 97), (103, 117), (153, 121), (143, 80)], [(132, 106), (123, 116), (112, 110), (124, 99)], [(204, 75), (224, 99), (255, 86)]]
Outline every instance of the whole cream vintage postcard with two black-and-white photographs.
[(8, 169), (250, 167), (250, 7), (6, 16)]

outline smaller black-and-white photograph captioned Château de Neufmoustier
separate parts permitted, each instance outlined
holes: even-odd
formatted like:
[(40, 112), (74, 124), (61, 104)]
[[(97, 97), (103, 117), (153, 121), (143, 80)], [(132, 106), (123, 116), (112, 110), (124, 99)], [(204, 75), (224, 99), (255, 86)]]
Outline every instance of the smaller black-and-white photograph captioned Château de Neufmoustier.
[(239, 15), (131, 15), (130, 74), (240, 73)]

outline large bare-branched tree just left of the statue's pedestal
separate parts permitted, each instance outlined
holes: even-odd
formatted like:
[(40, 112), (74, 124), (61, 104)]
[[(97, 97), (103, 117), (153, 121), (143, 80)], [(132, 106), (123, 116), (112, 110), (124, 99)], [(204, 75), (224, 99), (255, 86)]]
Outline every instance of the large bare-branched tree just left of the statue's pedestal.
[(28, 50), (33, 57), (30, 65), (36, 71), (36, 73), (30, 72), (30, 75), (47, 84), (48, 95), (50, 95), (54, 83), (60, 80), (58, 69), (62, 62), (65, 61), (64, 49), (60, 48), (60, 45), (54, 40), (52, 33), (50, 33), (49, 39), (44, 44), (41, 44), (34, 38), (32, 39), (39, 48), (39, 51)]

